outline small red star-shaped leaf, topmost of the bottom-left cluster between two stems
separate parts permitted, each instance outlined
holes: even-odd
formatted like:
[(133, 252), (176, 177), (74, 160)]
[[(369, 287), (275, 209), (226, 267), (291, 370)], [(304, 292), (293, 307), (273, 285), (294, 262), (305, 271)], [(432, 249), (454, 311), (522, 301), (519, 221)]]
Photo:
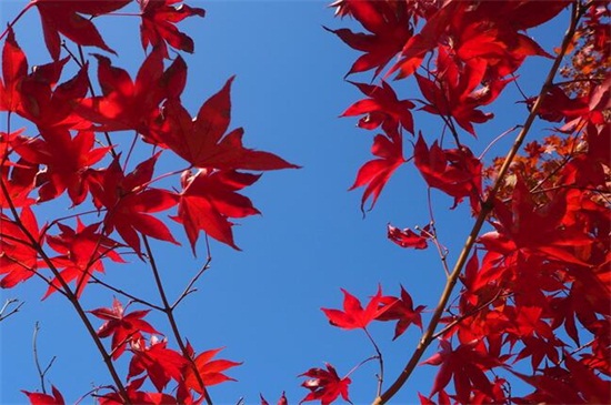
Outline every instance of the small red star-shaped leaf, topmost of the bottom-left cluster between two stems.
[(139, 341), (142, 333), (160, 334), (147, 321), (142, 320), (150, 310), (133, 311), (126, 314), (119, 300), (112, 300), (112, 307), (97, 308), (90, 311), (93, 315), (106, 322), (98, 328), (98, 336), (108, 337), (112, 335), (112, 358), (117, 360), (126, 351), (128, 343)]

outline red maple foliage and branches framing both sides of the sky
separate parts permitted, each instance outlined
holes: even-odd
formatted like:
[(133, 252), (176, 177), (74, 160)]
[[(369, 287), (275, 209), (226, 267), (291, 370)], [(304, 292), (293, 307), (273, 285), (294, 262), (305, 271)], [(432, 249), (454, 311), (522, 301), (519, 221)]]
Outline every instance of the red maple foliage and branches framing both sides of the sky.
[[(445, 285), (438, 302), (415, 307), (403, 286), (398, 296), (378, 286), (367, 304), (342, 288), (343, 310), (322, 312), (332, 326), (364, 333), (374, 355), (343, 375), (331, 363), (303, 372), (299, 377), (309, 392), (301, 403), (351, 403), (355, 372), (369, 362), (379, 366), (374, 404), (391, 401), (419, 366), (438, 367), (430, 391), (418, 393), (422, 404), (610, 403), (609, 4), (337, 0), (331, 6), (367, 30), (328, 29), (362, 52), (347, 77), (373, 71), (370, 84), (349, 82), (365, 98), (342, 113), (375, 131), (374, 158), (360, 168), (351, 190), (364, 188), (364, 213), (393, 174), (413, 163), (427, 185), (429, 217), (419, 217), (425, 225), (413, 230), (388, 224), (388, 237), (414, 251), (435, 247)], [(139, 21), (147, 52), (134, 79), (96, 24), (129, 7), (136, 12), (124, 14)], [(19, 20), (33, 8), (52, 61), (30, 69), (19, 45)], [(528, 30), (561, 13), (569, 28), (557, 49), (544, 50)], [(230, 130), (233, 78), (194, 118), (184, 107), (188, 65), (180, 52), (194, 52), (194, 41), (177, 24), (204, 14), (180, 0), (32, 0), (1, 34), (0, 286), (38, 279), (47, 284), (43, 298), (57, 293), (68, 300), (109, 371), (111, 384), (87, 394), (103, 405), (212, 404), (209, 388), (233, 379), (231, 368), (241, 363), (214, 358), (221, 348), (196, 351), (174, 316), (210, 266), (210, 252), (171, 303), (150, 239), (179, 243), (158, 214), (176, 210), (171, 219), (183, 226), (193, 254), (202, 231), (238, 250), (233, 219), (259, 213), (240, 192), (261, 172), (298, 168), (246, 148), (243, 129)], [(82, 47), (106, 53), (87, 59)], [(562, 67), (565, 55), (571, 64)], [(539, 93), (518, 100), (524, 119), (511, 149), (504, 158), (478, 156), (475, 149), (492, 146), (480, 140), (478, 125), (494, 120), (489, 110), (508, 87), (519, 87), (520, 68), (533, 57), (550, 59), (551, 68)], [(97, 65), (96, 74), (90, 65)], [(401, 95), (408, 81), (419, 94)], [(417, 113), (438, 117), (440, 133), (422, 128)], [(28, 126), (14, 130), (16, 115)], [(551, 134), (533, 135), (535, 120), (551, 123)], [(126, 131), (134, 133), (131, 140)], [(134, 149), (147, 159), (134, 163)], [(183, 166), (156, 176), (167, 154)], [(431, 189), (452, 199), (451, 210), (469, 201), (473, 224), (452, 256), (435, 227)], [(46, 204), (70, 204), (74, 213), (41, 221), (38, 209)], [(104, 282), (104, 264), (121, 265), (126, 254), (148, 264), (160, 305)], [(129, 303), (113, 297), (109, 307), (86, 308), (81, 297), (91, 282)], [(8, 311), (10, 304), (0, 320), (19, 308)], [(128, 312), (131, 305), (139, 308)], [(168, 335), (148, 318), (151, 311), (167, 317)], [(421, 330), (420, 340), (407, 345), (412, 354), (397, 376), (384, 373), (388, 357), (370, 331), (377, 322), (395, 322), (394, 344), (405, 345), (399, 337), (410, 327)], [(439, 351), (423, 360), (434, 342)], [(127, 364), (126, 378), (119, 360)], [(527, 386), (523, 394), (512, 391), (517, 381)], [(41, 388), (22, 392), (31, 404), (64, 404), (56, 386), (50, 394), (44, 383)], [(278, 403), (288, 403), (284, 393)]]

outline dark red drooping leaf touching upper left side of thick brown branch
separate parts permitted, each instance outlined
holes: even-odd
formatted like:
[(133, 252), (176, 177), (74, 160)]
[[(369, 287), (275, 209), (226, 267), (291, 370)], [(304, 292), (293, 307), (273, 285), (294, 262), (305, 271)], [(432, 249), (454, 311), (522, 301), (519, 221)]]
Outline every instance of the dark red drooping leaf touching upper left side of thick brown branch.
[(413, 155), (414, 164), (427, 183), (454, 198), (452, 209), (469, 196), (471, 207), (479, 211), (482, 164), (469, 148), (442, 150), (435, 140), (429, 150), (420, 134)]

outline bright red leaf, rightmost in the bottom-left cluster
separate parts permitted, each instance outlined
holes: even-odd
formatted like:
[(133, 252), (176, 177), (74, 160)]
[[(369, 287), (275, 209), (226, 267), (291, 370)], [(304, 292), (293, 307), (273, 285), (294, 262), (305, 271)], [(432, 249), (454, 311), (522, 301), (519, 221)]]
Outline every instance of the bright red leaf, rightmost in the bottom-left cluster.
[[(213, 348), (200, 353), (196, 358), (196, 367), (206, 387), (221, 384), (228, 381), (236, 381), (223, 374), (226, 369), (241, 365), (242, 363), (231, 362), (229, 360), (212, 360), (223, 347)], [(202, 388), (198, 383), (198, 378), (192, 367), (186, 367), (184, 384), (193, 388), (199, 394), (202, 394)]]

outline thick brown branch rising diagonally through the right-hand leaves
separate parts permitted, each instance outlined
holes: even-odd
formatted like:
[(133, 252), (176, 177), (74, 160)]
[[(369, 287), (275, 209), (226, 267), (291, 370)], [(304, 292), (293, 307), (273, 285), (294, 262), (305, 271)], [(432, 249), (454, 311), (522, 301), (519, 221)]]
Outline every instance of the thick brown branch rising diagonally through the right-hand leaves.
[(424, 351), (429, 347), (431, 342), (433, 342), (433, 336), (435, 334), (435, 330), (439, 325), (439, 321), (441, 318), (441, 315), (445, 308), (445, 305), (448, 301), (450, 300), (450, 295), (452, 294), (452, 291), (457, 284), (457, 281), (459, 279), (460, 273), (462, 272), (462, 269), (464, 264), (467, 263), (467, 260), (471, 253), (471, 250), (473, 249), (473, 245), (475, 244), (475, 241), (478, 239), (478, 235), (488, 217), (488, 215), (492, 212), (493, 209), (493, 201), (503, 185), (504, 178), (509, 171), (510, 164), (513, 162), (513, 159), (515, 158), (518, 151), (520, 150), (520, 146), (522, 145), (522, 142), (524, 141), (527, 134), (530, 131), (530, 128), (532, 123), (534, 122), (538, 111), (541, 108), (541, 104), (543, 100), (545, 99), (545, 95), (548, 93), (548, 90), (552, 85), (553, 78), (555, 77), (555, 73), (560, 67), (560, 63), (562, 62), (562, 58), (564, 57), (564, 53), (567, 52), (567, 49), (569, 44), (571, 43), (571, 40), (574, 36), (577, 23), (579, 21), (579, 18), (581, 17), (581, 12), (579, 10), (579, 6), (573, 3), (572, 7), (572, 13), (571, 13), (571, 22), (569, 26), (569, 29), (567, 30), (567, 33), (564, 34), (564, 38), (562, 40), (562, 45), (560, 49), (560, 52), (558, 53), (549, 73), (545, 78), (545, 81), (543, 85), (541, 87), (541, 91), (539, 92), (539, 97), (537, 98), (537, 101), (534, 102), (534, 105), (532, 107), (529, 117), (524, 121), (524, 124), (515, 138), (513, 145), (511, 146), (510, 151), (507, 154), (507, 158), (499, 171), (499, 175), (497, 178), (497, 181), (494, 182), (494, 185), (492, 190), (490, 191), (485, 202), (482, 204), (481, 211), (475, 220), (475, 223), (473, 224), (473, 227), (471, 229), (471, 232), (469, 233), (469, 236), (467, 237), (467, 241), (464, 243), (464, 246), (462, 247), (462, 251), (460, 252), (460, 255), (457, 260), (457, 263), (454, 264), (454, 267), (452, 270), (452, 273), (450, 274), (450, 277), (448, 279), (445, 286), (443, 288), (443, 292), (440, 296), (439, 303), (435, 307), (435, 311), (431, 317), (431, 321), (424, 331), (422, 337), (420, 338), (420, 342), (418, 346), (415, 347), (412, 356), (405, 364), (403, 371), (398, 376), (398, 378), (394, 381), (394, 383), (384, 392), (382, 395), (380, 395), (375, 401), (373, 402), (374, 405), (381, 405), (387, 403), (389, 399), (391, 399), (401, 389), (403, 384), (408, 381), (410, 375), (413, 373), (413, 369), (418, 365), (418, 362), (424, 354)]

